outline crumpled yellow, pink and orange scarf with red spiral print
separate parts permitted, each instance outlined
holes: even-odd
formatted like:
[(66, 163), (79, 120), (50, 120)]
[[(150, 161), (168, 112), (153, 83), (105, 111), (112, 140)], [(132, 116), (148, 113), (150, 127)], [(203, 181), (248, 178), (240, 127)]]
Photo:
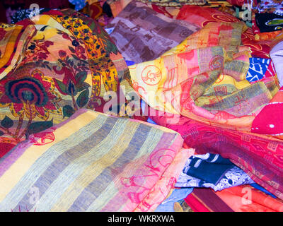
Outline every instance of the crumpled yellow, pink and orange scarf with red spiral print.
[(242, 30), (240, 23), (209, 23), (158, 59), (129, 66), (134, 90), (154, 109), (250, 131), (278, 88), (272, 77), (246, 81)]

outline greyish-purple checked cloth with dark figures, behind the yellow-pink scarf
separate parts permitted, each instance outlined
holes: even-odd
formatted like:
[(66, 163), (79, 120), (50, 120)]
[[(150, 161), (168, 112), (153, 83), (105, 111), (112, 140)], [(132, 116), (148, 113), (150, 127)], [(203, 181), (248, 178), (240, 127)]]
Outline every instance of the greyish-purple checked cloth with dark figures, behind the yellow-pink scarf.
[(115, 28), (110, 37), (127, 61), (136, 63), (160, 57), (198, 28), (168, 18), (150, 6), (131, 1), (106, 28)]

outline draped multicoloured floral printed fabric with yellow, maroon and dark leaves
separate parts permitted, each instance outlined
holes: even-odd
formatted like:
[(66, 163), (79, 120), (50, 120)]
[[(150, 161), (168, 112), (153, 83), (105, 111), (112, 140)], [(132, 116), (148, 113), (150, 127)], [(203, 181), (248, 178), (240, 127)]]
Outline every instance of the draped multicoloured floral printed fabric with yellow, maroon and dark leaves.
[(0, 28), (1, 155), (80, 108), (132, 114), (118, 91), (134, 95), (129, 71), (107, 32), (73, 10), (47, 13)]

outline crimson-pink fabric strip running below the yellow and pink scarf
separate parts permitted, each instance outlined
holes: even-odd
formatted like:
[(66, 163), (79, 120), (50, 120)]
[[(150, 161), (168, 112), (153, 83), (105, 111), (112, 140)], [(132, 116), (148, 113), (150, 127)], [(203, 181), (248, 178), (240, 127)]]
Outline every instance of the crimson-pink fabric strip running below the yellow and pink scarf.
[[(150, 107), (149, 111), (153, 121), (180, 133), (185, 145), (195, 148), (196, 153), (216, 153), (229, 158), (254, 182), (283, 199), (282, 140), (208, 126), (182, 116), (176, 121), (178, 117), (154, 111)], [(170, 119), (174, 119), (173, 124)]]

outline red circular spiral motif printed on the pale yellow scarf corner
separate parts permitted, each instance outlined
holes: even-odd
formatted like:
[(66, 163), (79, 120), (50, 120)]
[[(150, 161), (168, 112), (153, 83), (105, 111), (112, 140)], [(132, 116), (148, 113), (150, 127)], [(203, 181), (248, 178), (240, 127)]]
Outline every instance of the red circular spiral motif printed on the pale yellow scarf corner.
[(161, 70), (157, 66), (149, 65), (141, 72), (141, 79), (146, 85), (156, 85), (161, 81)]

